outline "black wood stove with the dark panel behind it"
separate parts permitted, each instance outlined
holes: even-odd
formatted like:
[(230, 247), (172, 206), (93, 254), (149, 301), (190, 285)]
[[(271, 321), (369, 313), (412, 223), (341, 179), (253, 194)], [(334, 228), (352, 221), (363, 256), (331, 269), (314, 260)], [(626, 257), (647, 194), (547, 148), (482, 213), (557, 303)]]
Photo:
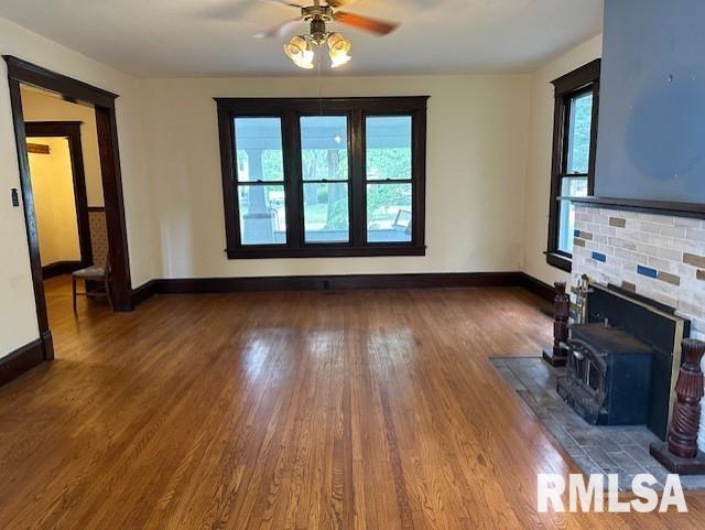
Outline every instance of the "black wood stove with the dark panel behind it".
[(655, 301), (583, 281), (558, 393), (589, 423), (647, 424), (665, 440), (690, 322)]

